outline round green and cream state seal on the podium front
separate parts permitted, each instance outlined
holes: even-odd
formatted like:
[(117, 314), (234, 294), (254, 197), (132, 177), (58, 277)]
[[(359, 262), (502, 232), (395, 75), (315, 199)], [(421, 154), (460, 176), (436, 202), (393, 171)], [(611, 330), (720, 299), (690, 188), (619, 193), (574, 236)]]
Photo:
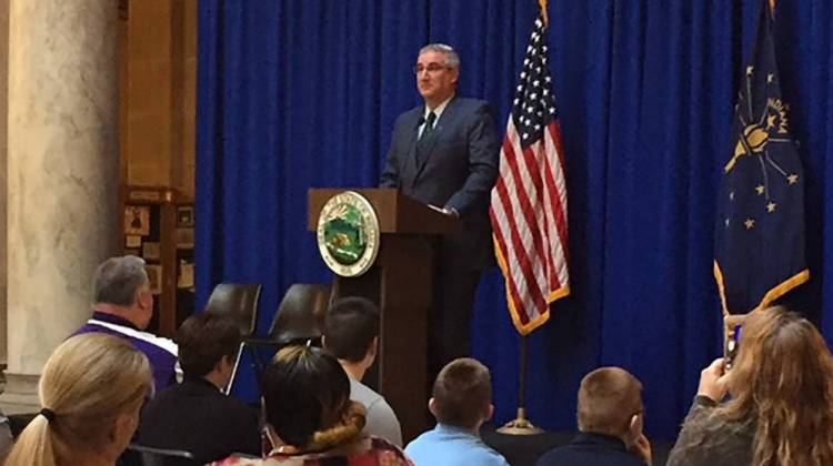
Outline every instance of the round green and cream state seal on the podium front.
[(367, 272), (379, 254), (379, 217), (373, 205), (354, 191), (330, 197), (318, 217), (318, 249), (340, 276)]

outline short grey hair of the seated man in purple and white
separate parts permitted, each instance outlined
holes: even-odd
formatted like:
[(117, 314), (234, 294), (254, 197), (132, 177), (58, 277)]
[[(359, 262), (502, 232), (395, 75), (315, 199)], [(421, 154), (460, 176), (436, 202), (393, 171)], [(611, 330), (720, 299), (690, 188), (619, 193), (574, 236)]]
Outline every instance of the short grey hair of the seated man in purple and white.
[(134, 255), (110, 257), (96, 269), (92, 302), (130, 306), (136, 301), (136, 292), (145, 284), (144, 260)]

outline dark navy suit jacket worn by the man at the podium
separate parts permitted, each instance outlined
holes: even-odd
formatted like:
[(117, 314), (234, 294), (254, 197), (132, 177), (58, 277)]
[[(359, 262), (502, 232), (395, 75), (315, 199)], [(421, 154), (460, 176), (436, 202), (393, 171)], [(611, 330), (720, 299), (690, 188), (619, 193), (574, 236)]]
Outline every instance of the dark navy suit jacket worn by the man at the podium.
[(441, 254), (471, 270), (485, 269), (494, 262), (489, 195), (498, 178), (500, 153), (492, 109), (482, 100), (452, 98), (429, 139), (421, 142), (424, 150), (418, 156), (424, 112), (420, 105), (397, 119), (380, 185), (458, 211), (463, 232), (446, 237)]

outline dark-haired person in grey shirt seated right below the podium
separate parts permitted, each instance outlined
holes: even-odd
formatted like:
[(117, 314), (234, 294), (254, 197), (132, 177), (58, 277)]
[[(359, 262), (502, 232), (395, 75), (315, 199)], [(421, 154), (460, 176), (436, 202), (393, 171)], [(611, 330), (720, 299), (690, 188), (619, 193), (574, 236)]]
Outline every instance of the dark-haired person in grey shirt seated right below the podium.
[(324, 317), (324, 348), (350, 377), (350, 399), (368, 409), (364, 433), (402, 446), (402, 427), (382, 395), (360, 381), (373, 365), (379, 348), (379, 307), (362, 297), (337, 301)]

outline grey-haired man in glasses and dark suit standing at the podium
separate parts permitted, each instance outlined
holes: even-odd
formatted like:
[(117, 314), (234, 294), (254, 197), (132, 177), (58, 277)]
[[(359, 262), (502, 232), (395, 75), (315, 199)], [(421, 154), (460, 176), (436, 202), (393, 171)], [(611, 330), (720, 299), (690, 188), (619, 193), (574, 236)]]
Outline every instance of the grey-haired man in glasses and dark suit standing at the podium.
[(500, 135), (488, 102), (456, 95), (454, 49), (423, 47), (413, 71), (425, 103), (397, 119), (380, 185), (440, 207), (463, 225), (442, 239), (436, 255), (428, 315), (431, 376), (470, 352), (474, 293), (483, 270), (494, 263), (489, 193), (498, 176)]

